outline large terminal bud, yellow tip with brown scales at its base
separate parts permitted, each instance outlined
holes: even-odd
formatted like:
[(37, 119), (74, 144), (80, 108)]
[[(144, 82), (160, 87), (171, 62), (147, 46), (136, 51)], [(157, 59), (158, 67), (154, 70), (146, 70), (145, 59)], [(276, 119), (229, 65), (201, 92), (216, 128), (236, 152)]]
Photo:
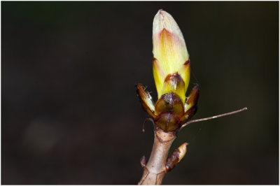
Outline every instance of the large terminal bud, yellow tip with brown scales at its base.
[(154, 104), (151, 95), (140, 84), (137, 84), (137, 95), (156, 127), (178, 131), (197, 110), (199, 87), (193, 89), (186, 101), (190, 81), (188, 50), (177, 23), (164, 10), (158, 10), (153, 20), (153, 56), (158, 101)]

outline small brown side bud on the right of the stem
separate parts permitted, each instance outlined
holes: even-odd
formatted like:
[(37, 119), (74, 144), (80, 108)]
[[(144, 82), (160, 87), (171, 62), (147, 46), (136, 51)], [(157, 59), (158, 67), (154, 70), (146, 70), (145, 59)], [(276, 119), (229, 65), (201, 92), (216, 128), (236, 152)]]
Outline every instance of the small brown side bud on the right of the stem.
[(167, 159), (165, 164), (165, 173), (174, 169), (176, 164), (178, 164), (181, 159), (186, 155), (188, 143), (183, 143), (179, 148), (172, 152), (172, 155)]

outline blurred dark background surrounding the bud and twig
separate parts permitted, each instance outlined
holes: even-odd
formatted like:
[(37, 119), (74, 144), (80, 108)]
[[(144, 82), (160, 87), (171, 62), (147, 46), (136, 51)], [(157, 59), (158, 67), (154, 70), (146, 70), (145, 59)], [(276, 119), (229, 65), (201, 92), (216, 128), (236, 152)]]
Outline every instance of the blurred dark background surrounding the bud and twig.
[(137, 184), (152, 124), (134, 83), (156, 90), (152, 22), (179, 24), (200, 84), (164, 184), (279, 184), (279, 3), (1, 2), (1, 184)]

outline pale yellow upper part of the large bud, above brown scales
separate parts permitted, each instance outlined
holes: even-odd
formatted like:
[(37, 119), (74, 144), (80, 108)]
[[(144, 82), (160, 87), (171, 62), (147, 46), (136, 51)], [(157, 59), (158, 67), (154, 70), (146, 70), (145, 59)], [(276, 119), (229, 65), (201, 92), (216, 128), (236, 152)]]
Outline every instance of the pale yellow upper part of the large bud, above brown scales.
[[(185, 94), (190, 80), (188, 50), (178, 24), (172, 15), (164, 10), (159, 10), (153, 20), (153, 56), (153, 75), (158, 99), (162, 94), (177, 90), (180, 92), (182, 102), (185, 103)], [(176, 73), (181, 76), (184, 85), (177, 87), (178, 84), (169, 83), (173, 87), (165, 86), (165, 78)]]

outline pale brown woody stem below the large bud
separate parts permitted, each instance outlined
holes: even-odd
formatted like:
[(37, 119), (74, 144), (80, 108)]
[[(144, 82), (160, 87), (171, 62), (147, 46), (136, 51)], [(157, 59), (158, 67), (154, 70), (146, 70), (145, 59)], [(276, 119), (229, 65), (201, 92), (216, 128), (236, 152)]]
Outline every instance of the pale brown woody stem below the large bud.
[(139, 185), (160, 185), (165, 176), (165, 164), (169, 148), (172, 145), (176, 134), (155, 129), (153, 150), (148, 164), (144, 167), (144, 173)]

